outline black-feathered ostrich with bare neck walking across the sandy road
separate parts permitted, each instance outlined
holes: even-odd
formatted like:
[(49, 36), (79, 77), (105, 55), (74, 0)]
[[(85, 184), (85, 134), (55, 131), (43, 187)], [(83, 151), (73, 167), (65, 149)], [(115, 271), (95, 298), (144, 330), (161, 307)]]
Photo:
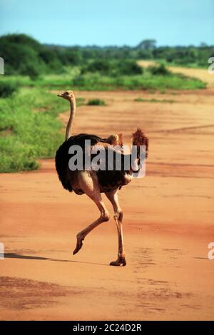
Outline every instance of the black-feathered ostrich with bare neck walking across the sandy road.
[[(83, 240), (86, 235), (91, 232), (102, 222), (109, 220), (110, 215), (106, 206), (104, 205), (101, 193), (105, 193), (108, 200), (110, 200), (113, 205), (114, 220), (116, 221), (116, 227), (118, 232), (118, 258), (116, 261), (110, 263), (113, 266), (126, 266), (126, 254), (123, 247), (123, 231), (122, 231), (122, 220), (123, 211), (118, 202), (118, 190), (123, 186), (131, 182), (133, 177), (133, 170), (125, 170), (122, 168), (121, 171), (118, 170), (70, 170), (68, 167), (68, 160), (71, 155), (68, 155), (68, 150), (71, 145), (80, 145), (81, 148), (85, 146), (85, 140), (91, 140), (91, 148), (96, 145), (100, 145), (105, 150), (108, 148), (113, 149), (113, 145), (120, 145), (122, 147), (123, 140), (122, 135), (111, 135), (106, 139), (100, 138), (96, 135), (90, 134), (78, 134), (72, 135), (72, 125), (73, 118), (76, 113), (76, 100), (73, 91), (65, 91), (58, 94), (58, 97), (64, 98), (69, 101), (71, 111), (70, 117), (68, 119), (68, 124), (66, 126), (66, 140), (56, 151), (56, 171), (58, 172), (58, 178), (61, 181), (63, 187), (69, 192), (75, 192), (77, 195), (82, 195), (85, 193), (88, 197), (96, 203), (98, 210), (101, 212), (100, 217), (95, 220), (91, 225), (88, 225), (81, 232), (76, 235), (76, 248), (73, 254), (76, 254), (83, 246)], [(136, 133), (133, 133), (133, 145), (146, 145), (146, 157), (148, 155), (148, 138), (144, 135), (141, 129), (138, 129)], [(123, 151), (121, 151), (121, 155)], [(131, 156), (131, 155), (129, 155)], [(139, 155), (138, 155), (139, 160)], [(124, 166), (124, 165), (123, 165)]]

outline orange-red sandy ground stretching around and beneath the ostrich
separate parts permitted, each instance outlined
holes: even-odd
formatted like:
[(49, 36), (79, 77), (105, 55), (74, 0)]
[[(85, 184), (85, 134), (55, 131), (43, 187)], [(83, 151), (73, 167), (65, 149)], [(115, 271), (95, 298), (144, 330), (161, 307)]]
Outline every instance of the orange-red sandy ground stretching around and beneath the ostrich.
[[(73, 256), (76, 233), (98, 217), (96, 205), (63, 190), (54, 160), (0, 175), (0, 319), (214, 319), (213, 80), (206, 90), (165, 95), (76, 92), (108, 105), (78, 108), (75, 133), (122, 132), (130, 143), (141, 126), (150, 139), (146, 177), (119, 193), (126, 267), (108, 266), (117, 234), (105, 195), (111, 220)], [(176, 102), (134, 101), (140, 97)]]

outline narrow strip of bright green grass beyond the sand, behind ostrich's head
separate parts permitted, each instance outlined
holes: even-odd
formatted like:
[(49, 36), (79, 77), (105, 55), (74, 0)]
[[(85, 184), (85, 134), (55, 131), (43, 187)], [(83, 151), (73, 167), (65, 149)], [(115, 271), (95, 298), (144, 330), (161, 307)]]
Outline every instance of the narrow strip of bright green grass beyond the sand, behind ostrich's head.
[(14, 81), (19, 86), (47, 88), (55, 90), (73, 89), (73, 91), (116, 91), (116, 90), (198, 90), (206, 84), (198, 78), (190, 78), (180, 73), (153, 75), (145, 70), (142, 75), (103, 76), (100, 73), (80, 74), (80, 68), (70, 68), (63, 75), (41, 76), (36, 81), (27, 76), (4, 76), (2, 81)]

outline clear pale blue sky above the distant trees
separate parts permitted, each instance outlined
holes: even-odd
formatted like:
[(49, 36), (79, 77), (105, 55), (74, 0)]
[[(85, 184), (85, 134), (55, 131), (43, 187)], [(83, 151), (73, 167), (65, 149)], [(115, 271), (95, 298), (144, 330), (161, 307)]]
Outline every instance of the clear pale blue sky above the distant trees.
[(214, 44), (214, 0), (0, 0), (5, 33), (62, 45)]

